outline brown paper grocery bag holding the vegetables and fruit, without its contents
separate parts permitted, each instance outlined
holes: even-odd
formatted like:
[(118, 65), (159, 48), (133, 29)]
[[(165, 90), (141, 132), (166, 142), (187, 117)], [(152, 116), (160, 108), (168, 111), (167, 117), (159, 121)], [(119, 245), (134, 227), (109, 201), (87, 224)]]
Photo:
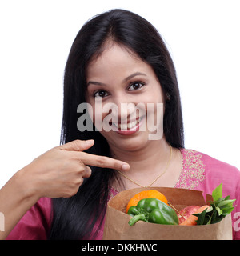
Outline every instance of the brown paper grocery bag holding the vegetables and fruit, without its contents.
[(108, 202), (103, 239), (105, 240), (230, 240), (232, 225), (230, 214), (221, 222), (202, 226), (161, 225), (139, 221), (129, 226), (130, 216), (126, 206), (130, 198), (142, 190), (158, 190), (178, 210), (186, 206), (203, 206), (212, 200), (206, 194), (206, 202), (201, 191), (166, 187), (125, 190)]

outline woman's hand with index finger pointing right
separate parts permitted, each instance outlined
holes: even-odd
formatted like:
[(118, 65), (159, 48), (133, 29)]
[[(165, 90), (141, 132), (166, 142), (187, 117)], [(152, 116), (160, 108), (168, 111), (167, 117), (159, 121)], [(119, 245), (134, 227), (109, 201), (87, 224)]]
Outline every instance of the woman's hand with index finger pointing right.
[(89, 178), (89, 166), (128, 170), (126, 162), (83, 152), (94, 145), (94, 140), (66, 143), (34, 159), (22, 171), (22, 182), (38, 198), (68, 198), (78, 192), (84, 178)]

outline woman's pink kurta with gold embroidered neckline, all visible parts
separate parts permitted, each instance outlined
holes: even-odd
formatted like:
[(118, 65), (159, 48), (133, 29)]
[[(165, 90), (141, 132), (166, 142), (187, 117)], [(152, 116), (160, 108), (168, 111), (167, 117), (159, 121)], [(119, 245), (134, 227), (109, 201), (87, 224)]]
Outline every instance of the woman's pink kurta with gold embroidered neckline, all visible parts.
[[(234, 166), (220, 162), (206, 154), (194, 150), (182, 149), (182, 172), (174, 187), (190, 190), (201, 190), (205, 194), (211, 194), (215, 187), (223, 183), (223, 196), (230, 195), (236, 198), (237, 205), (233, 212), (233, 238), (240, 240), (240, 172)], [(110, 198), (118, 194), (111, 189)], [(51, 199), (41, 198), (26, 212), (11, 231), (7, 239), (46, 239), (46, 234), (51, 223)], [(96, 239), (102, 239), (102, 229)]]

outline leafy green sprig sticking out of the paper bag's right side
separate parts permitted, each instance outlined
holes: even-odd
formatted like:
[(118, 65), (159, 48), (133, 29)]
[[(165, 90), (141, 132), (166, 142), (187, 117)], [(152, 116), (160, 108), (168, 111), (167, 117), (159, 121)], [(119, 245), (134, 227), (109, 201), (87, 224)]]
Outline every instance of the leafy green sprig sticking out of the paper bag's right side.
[(213, 190), (212, 197), (214, 201), (210, 202), (209, 209), (202, 211), (201, 214), (194, 214), (198, 217), (197, 225), (218, 223), (234, 210), (233, 204), (236, 199), (230, 200), (230, 195), (222, 197), (222, 183)]

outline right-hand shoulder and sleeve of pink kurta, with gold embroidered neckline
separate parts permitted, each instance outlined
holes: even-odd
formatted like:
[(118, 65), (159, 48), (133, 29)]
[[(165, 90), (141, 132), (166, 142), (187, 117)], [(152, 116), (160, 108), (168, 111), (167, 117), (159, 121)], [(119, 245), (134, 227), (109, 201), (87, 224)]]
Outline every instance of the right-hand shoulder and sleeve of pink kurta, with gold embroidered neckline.
[(235, 208), (231, 212), (233, 238), (240, 240), (240, 172), (207, 154), (195, 150), (182, 149), (182, 172), (176, 187), (200, 190), (203, 194), (212, 194), (222, 183), (222, 196), (230, 195)]

